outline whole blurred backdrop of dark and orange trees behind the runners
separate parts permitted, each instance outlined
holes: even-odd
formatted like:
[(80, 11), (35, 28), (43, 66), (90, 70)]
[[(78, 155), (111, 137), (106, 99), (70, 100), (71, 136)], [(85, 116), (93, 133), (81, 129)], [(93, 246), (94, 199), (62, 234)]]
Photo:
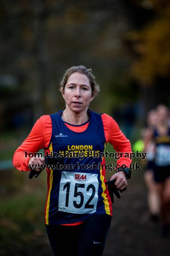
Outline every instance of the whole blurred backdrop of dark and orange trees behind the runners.
[[(133, 103), (143, 122), (143, 113), (169, 100), (169, 15), (161, 0), (1, 0), (1, 129), (19, 116), (30, 127), (64, 108), (59, 80), (79, 64), (92, 68), (101, 87), (94, 111)], [(17, 81), (6, 96), (4, 76)]]

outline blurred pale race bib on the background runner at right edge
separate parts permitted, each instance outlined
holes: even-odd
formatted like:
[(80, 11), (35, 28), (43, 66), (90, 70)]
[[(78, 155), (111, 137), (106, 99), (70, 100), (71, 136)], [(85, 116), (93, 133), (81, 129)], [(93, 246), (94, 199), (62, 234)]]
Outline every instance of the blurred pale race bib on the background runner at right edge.
[(157, 166), (168, 166), (170, 165), (170, 146), (160, 145), (156, 151), (156, 165)]

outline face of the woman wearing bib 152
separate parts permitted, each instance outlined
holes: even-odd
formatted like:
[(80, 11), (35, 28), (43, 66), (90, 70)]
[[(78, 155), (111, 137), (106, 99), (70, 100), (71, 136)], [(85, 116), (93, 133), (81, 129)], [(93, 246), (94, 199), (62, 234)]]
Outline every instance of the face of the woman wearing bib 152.
[(61, 92), (66, 107), (77, 113), (88, 109), (88, 105), (94, 99), (88, 77), (77, 72), (69, 76), (64, 91), (62, 89)]

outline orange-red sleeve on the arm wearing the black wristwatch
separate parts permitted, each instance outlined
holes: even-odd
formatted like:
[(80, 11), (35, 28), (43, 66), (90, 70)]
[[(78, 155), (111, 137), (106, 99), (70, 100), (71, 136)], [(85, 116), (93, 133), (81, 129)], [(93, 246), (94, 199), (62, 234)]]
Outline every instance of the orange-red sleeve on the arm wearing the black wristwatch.
[[(127, 140), (125, 135), (119, 129), (116, 121), (107, 114), (102, 114), (102, 121), (105, 131), (106, 142), (109, 142), (111, 145), (113, 145), (113, 148), (116, 150), (116, 152), (132, 152), (130, 141)], [(130, 158), (123, 156), (117, 161), (117, 164), (125, 164), (127, 167), (129, 167), (131, 162), (132, 160), (130, 160)]]

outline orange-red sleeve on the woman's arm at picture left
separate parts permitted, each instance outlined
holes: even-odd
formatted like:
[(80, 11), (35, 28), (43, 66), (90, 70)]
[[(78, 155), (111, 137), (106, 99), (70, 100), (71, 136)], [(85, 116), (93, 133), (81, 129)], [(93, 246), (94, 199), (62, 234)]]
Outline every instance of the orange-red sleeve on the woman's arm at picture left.
[(12, 163), (19, 171), (30, 171), (28, 162), (30, 157), (25, 157), (23, 151), (38, 152), (42, 148), (47, 148), (51, 139), (52, 125), (51, 117), (49, 115), (41, 116), (37, 120), (30, 134), (24, 140), (22, 145), (17, 148), (14, 153)]

